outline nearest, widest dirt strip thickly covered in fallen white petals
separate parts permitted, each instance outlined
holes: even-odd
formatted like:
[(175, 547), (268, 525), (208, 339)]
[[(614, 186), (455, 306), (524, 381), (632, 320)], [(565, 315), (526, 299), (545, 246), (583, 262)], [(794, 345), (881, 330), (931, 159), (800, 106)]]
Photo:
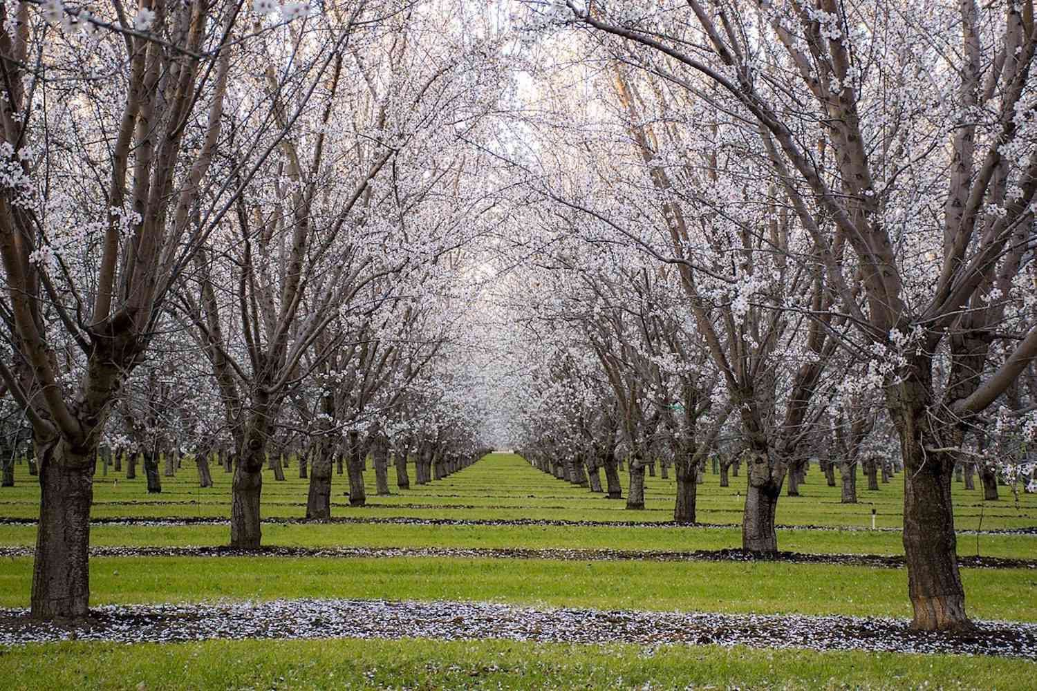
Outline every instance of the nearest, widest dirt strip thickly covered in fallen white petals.
[(993, 655), (1037, 660), (1037, 625), (982, 622), (968, 635), (913, 632), (906, 621), (851, 616), (531, 609), (472, 602), (275, 600), (106, 606), (81, 625), (0, 609), (0, 644), (68, 639), (438, 638), (674, 643)]

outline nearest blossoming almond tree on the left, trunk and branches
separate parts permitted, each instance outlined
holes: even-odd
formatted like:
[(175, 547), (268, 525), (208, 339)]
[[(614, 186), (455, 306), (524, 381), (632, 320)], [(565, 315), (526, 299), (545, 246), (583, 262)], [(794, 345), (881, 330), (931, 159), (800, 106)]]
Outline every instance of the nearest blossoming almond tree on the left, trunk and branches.
[(39, 463), (35, 617), (87, 612), (97, 444), (170, 285), (211, 230), (191, 210), (222, 135), (221, 47), (243, 38), (241, 13), (222, 0), (97, 15), (0, 6), (0, 314), (17, 353), (0, 378)]

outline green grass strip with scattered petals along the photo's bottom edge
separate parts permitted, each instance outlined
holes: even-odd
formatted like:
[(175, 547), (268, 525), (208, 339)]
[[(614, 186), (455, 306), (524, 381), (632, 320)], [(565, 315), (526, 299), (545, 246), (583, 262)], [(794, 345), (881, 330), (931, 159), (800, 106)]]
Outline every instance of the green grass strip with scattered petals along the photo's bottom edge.
[(11, 691), (45, 689), (1032, 689), (1003, 658), (520, 641), (65, 642), (0, 655)]

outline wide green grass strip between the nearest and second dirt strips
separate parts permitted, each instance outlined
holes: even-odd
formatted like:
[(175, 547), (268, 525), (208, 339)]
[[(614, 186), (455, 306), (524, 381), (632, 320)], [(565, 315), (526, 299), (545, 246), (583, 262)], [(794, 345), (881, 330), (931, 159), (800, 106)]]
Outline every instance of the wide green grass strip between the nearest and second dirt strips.
[[(1037, 621), (1037, 572), (962, 570), (983, 620)], [(26, 606), (32, 559), (0, 562), (0, 606)], [(902, 569), (776, 563), (483, 558), (96, 557), (92, 605), (219, 599), (492, 601), (541, 607), (907, 617)]]

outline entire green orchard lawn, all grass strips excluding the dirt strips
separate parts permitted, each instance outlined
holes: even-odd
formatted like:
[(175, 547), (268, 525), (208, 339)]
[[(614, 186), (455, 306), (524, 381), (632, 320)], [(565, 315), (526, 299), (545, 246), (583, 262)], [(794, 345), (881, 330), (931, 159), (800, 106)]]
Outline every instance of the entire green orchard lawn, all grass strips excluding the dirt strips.
[[(142, 473), (141, 473), (142, 474)], [(142, 477), (99, 471), (94, 517), (212, 517), (230, 513), (229, 474), (214, 465), (216, 487), (199, 490), (193, 464), (163, 478), (148, 495)], [(267, 472), (263, 516), (301, 518), (306, 481)], [(561, 519), (669, 521), (674, 481), (647, 479), (647, 509), (573, 487), (532, 469), (516, 456), (496, 454), (444, 481), (374, 496), (351, 509), (343, 477), (334, 478), (333, 515), (425, 519)], [(623, 481), (626, 474), (621, 473)], [(414, 477), (412, 470), (412, 478)], [(394, 480), (394, 471), (390, 469)], [(17, 486), (0, 489), (0, 517), (35, 517), (38, 486), (18, 466)], [(745, 477), (721, 488), (707, 476), (699, 488), (699, 520), (737, 524)], [(901, 522), (902, 480), (868, 492), (862, 503), (839, 503), (812, 470), (804, 496), (783, 496), (778, 520), (789, 525), (866, 527), (871, 510), (879, 527)], [(1037, 525), (1037, 497), (1009, 488), (1002, 500), (955, 484), (959, 529)], [(722, 528), (625, 525), (430, 525), (373, 522), (263, 525), (267, 545), (300, 547), (571, 548), (697, 550), (740, 546), (736, 526)], [(228, 542), (226, 523), (213, 525), (94, 525), (96, 546), (213, 546)], [(31, 546), (34, 525), (0, 525), (0, 545)], [(809, 553), (902, 554), (897, 530), (779, 530), (779, 547)], [(960, 535), (958, 552), (1037, 557), (1037, 536)], [(968, 608), (982, 620), (1037, 622), (1037, 571), (965, 569)], [(25, 607), (31, 557), (0, 562), (0, 606)], [(578, 562), (558, 559), (413, 557), (96, 557), (91, 559), (93, 604), (376, 598), (494, 601), (541, 607), (851, 614), (906, 617), (910, 607), (903, 569), (781, 563)], [(983, 688), (1029, 689), (1037, 664), (966, 656), (870, 654), (674, 645), (654, 650), (617, 642), (567, 645), (483, 640), (213, 640), (200, 643), (115, 645), (64, 642), (0, 647), (0, 675), (12, 689), (543, 689), (543, 688)]]

